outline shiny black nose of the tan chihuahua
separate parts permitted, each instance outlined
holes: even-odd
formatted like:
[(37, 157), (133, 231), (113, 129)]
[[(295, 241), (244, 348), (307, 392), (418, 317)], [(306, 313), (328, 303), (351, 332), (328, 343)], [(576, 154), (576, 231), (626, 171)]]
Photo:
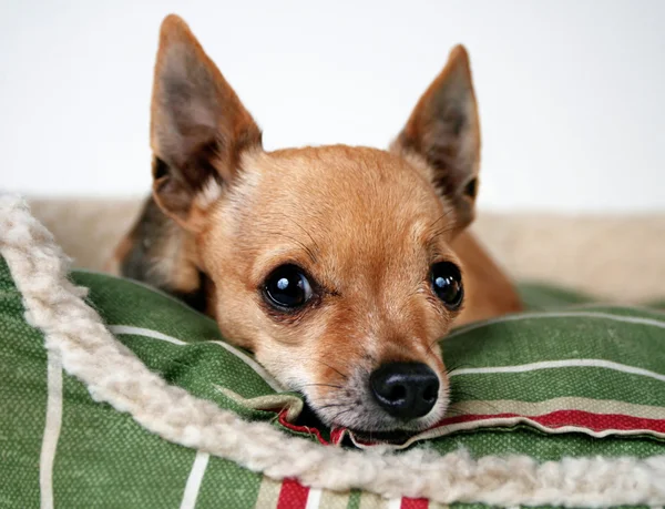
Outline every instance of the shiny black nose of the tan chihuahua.
[(369, 376), (377, 403), (401, 419), (422, 417), (432, 409), (439, 395), (439, 378), (427, 364), (383, 364)]

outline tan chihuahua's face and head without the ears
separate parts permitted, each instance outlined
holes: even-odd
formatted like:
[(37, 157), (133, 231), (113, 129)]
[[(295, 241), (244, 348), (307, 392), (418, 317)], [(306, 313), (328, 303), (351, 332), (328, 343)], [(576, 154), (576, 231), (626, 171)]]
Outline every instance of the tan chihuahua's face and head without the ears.
[[(242, 167), (200, 241), (225, 336), (328, 424), (378, 430), (440, 418), (448, 383), (437, 339), (463, 291), (453, 211), (426, 174), (345, 146), (249, 153)], [(437, 288), (436, 277), (451, 281)]]

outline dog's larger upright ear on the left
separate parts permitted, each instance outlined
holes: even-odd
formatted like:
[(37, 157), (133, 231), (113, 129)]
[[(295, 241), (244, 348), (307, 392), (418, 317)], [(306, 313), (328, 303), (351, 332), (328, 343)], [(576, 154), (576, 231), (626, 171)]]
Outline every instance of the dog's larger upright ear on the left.
[(213, 61), (176, 16), (162, 23), (151, 118), (153, 195), (186, 230), (238, 171), (243, 151), (260, 150), (260, 130)]

